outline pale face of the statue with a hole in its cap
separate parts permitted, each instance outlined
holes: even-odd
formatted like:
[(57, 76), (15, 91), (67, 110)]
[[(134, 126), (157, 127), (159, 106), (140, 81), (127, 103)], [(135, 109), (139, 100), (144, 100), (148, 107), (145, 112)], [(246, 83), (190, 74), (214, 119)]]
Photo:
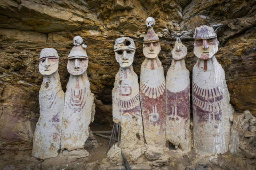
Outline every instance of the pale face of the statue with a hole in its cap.
[(127, 68), (132, 65), (134, 53), (135, 51), (129, 49), (115, 51), (116, 61), (119, 63), (120, 67)]

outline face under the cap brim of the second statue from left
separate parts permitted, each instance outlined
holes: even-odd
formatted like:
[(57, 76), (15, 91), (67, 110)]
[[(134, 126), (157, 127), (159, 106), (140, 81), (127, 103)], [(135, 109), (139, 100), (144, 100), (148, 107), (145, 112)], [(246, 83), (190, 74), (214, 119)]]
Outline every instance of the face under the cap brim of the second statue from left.
[(87, 58), (69, 58), (67, 69), (68, 72), (72, 75), (81, 75), (83, 74), (88, 67), (88, 59)]

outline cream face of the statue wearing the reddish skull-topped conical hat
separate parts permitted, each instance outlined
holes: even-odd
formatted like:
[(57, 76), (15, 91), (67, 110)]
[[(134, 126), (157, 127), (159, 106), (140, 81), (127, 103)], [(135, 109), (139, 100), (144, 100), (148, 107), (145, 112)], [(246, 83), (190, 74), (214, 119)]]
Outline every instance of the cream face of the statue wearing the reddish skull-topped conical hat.
[(161, 51), (159, 42), (144, 42), (143, 43), (143, 54), (147, 58), (156, 58)]

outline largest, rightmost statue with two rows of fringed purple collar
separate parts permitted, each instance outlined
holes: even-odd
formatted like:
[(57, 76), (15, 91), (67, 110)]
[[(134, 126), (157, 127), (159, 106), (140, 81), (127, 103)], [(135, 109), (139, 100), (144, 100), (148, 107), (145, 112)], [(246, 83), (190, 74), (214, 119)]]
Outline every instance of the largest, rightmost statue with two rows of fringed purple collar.
[(233, 114), (225, 73), (214, 54), (217, 35), (212, 27), (201, 26), (194, 33), (193, 135), (196, 153), (220, 154), (228, 150)]

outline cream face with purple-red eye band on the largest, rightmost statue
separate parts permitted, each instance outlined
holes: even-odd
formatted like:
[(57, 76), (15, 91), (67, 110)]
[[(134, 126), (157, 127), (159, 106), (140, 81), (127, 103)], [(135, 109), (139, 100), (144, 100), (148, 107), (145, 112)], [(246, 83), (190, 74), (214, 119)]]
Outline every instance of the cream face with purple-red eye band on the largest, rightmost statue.
[(194, 54), (203, 60), (212, 58), (218, 51), (217, 38), (195, 40)]

